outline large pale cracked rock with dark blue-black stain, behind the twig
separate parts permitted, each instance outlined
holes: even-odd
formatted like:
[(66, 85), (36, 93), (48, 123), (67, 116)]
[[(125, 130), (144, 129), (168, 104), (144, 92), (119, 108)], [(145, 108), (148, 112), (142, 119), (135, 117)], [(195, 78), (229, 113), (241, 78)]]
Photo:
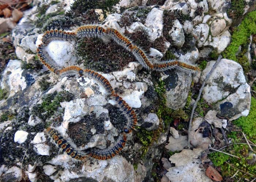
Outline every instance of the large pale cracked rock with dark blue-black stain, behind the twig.
[[(201, 75), (201, 82), (211, 70), (215, 61), (207, 63)], [(212, 72), (203, 90), (203, 98), (209, 103), (216, 103), (218, 115), (229, 120), (247, 116), (250, 103), (250, 87), (246, 83), (242, 67), (229, 59), (221, 59)]]

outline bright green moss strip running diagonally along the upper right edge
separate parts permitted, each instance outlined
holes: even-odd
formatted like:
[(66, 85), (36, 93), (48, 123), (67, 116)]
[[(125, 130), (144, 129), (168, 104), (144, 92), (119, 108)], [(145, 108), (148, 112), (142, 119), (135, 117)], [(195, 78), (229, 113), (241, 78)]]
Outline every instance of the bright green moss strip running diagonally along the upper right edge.
[(251, 34), (256, 34), (256, 11), (248, 13), (233, 32), (230, 45), (223, 51), (223, 58), (237, 61), (236, 53), (239, 46), (246, 44)]

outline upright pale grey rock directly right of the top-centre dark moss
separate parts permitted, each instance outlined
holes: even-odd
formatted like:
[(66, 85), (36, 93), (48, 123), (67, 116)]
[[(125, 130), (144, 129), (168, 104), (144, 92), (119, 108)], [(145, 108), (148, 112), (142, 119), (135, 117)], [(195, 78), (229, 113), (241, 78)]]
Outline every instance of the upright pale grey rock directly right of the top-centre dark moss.
[(173, 40), (173, 45), (177, 48), (180, 48), (183, 46), (185, 42), (185, 36), (183, 33), (182, 25), (178, 20), (175, 20), (173, 22), (172, 30), (169, 31), (169, 35), (171, 36)]

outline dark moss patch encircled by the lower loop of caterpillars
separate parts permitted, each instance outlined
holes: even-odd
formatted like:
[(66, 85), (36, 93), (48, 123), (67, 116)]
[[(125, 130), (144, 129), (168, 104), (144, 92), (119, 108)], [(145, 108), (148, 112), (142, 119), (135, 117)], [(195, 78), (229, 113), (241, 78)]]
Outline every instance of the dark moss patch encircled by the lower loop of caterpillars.
[(99, 117), (96, 117), (95, 113), (86, 115), (78, 123), (68, 124), (68, 136), (73, 139), (76, 146), (80, 147), (90, 142), (93, 133), (91, 129), (95, 128), (95, 134), (103, 133), (104, 121), (108, 120), (107, 114), (102, 113)]

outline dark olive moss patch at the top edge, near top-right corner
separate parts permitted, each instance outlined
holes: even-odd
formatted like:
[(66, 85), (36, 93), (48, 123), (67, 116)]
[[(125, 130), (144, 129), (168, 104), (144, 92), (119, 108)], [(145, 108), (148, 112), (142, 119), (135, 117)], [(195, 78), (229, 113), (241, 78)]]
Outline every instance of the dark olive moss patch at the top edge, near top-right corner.
[(242, 16), (244, 14), (245, 5), (245, 0), (232, 0), (231, 7), (227, 10), (227, 15), (230, 18), (237, 18)]

